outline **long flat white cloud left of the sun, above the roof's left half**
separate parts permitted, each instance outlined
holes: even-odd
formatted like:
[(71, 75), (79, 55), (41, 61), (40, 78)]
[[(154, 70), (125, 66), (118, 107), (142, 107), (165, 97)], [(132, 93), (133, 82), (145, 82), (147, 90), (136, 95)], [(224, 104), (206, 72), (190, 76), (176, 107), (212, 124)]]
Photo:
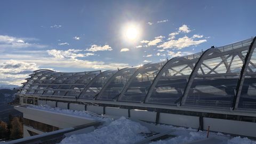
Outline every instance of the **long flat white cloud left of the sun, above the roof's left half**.
[(75, 50), (75, 49), (69, 49), (67, 51), (53, 49), (53, 50), (47, 50), (46, 52), (49, 55), (52, 55), (53, 57), (58, 59), (65, 59), (65, 58), (76, 59), (76, 58), (82, 58), (82, 57), (88, 57), (90, 55), (94, 55), (94, 53), (78, 53), (81, 51), (82, 50)]

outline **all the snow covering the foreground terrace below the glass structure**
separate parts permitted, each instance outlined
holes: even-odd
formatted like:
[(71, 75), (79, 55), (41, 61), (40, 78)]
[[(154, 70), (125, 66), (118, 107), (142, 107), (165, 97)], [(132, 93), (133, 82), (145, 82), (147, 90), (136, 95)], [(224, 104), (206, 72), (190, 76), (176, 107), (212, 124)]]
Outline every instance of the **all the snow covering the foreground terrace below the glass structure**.
[[(83, 116), (92, 119), (98, 119), (104, 121), (105, 124), (98, 129), (90, 133), (76, 134), (71, 135), (63, 139), (60, 143), (135, 143), (140, 140), (146, 139), (146, 136), (142, 133), (149, 133), (150, 130), (141, 125), (139, 122), (131, 121), (125, 117), (119, 119), (112, 119), (106, 117), (97, 117), (86, 113), (86, 111), (76, 111), (60, 108), (51, 108), (49, 106), (29, 106), (31, 108), (37, 108), (47, 111), (53, 111), (57, 113), (70, 114), (76, 116)], [(154, 125), (154, 124), (153, 124)], [(185, 127), (176, 127), (171, 125), (157, 125), (161, 129), (172, 130), (173, 132), (170, 135), (175, 135), (174, 138), (154, 141), (151, 143), (162, 144), (162, 143), (186, 143), (196, 140), (206, 139), (206, 132), (199, 131), (196, 129), (185, 128)], [(221, 144), (256, 144), (255, 141), (252, 141), (248, 138), (241, 137), (230, 137), (230, 135), (225, 135), (222, 133), (210, 132), (210, 138), (218, 138), (222, 140)]]

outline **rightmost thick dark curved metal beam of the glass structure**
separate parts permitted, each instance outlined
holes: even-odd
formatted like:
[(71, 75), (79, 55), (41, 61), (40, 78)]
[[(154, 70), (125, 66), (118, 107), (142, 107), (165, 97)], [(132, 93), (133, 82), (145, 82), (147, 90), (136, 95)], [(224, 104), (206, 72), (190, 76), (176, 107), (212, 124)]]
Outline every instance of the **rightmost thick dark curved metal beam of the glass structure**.
[(255, 40), (256, 40), (256, 37), (253, 38), (253, 41), (249, 47), (249, 50), (247, 51), (245, 59), (244, 59), (244, 65), (241, 69), (241, 73), (240, 73), (240, 76), (239, 76), (239, 79), (237, 82), (237, 86), (236, 86), (236, 94), (235, 94), (235, 97), (233, 100), (233, 107), (232, 107), (233, 110), (238, 107), (241, 91), (242, 91), (243, 84), (244, 84), (245, 74), (247, 72), (247, 69), (249, 68), (248, 66), (251, 61), (253, 51), (256, 47)]

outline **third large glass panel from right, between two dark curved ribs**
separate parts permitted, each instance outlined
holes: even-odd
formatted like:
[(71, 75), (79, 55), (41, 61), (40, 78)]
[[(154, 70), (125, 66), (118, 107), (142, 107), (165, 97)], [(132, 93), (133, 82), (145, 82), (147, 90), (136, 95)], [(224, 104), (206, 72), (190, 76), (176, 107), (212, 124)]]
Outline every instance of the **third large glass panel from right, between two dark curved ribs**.
[(162, 76), (146, 102), (177, 105), (176, 103), (183, 95), (189, 75), (199, 58), (199, 55), (196, 55), (195, 59), (177, 58), (167, 63), (166, 69), (162, 71)]

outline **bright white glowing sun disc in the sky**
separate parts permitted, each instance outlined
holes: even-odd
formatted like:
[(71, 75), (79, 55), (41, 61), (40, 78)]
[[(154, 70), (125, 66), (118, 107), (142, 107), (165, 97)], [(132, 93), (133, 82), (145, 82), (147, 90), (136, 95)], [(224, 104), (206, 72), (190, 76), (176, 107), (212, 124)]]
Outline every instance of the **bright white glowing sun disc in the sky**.
[(129, 23), (123, 28), (124, 39), (128, 42), (135, 42), (140, 36), (140, 27), (133, 23)]

